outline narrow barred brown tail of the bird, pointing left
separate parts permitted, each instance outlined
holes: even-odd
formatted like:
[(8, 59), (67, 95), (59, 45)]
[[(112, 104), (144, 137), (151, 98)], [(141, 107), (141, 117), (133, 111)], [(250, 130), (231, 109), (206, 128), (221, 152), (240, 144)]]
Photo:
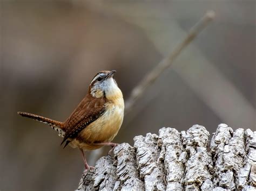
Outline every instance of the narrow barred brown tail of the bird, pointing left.
[(59, 133), (60, 137), (64, 137), (64, 135), (65, 135), (64, 123), (62, 123), (62, 122), (58, 122), (58, 121), (55, 121), (55, 120), (52, 120), (52, 119), (49, 119), (46, 117), (42, 117), (42, 116), (35, 115), (35, 114), (29, 114), (29, 113), (21, 112), (21, 111), (18, 111), (18, 114), (21, 115), (22, 117), (28, 117), (31, 119), (35, 119), (39, 122), (49, 124), (53, 130), (55, 130)]

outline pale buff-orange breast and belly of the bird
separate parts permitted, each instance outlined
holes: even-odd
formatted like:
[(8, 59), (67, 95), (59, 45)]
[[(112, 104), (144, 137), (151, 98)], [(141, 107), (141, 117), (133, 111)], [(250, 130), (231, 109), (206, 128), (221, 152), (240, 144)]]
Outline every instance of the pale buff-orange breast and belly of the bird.
[(81, 131), (78, 137), (72, 140), (70, 146), (84, 150), (95, 150), (102, 147), (97, 143), (111, 142), (123, 123), (123, 117), (123, 107), (110, 106), (101, 117)]

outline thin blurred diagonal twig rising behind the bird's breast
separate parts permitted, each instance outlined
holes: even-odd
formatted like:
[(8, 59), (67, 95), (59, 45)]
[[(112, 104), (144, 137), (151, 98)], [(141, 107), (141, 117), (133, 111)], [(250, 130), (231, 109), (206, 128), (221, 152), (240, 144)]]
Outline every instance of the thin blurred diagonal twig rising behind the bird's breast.
[(206, 14), (194, 25), (186, 38), (174, 49), (173, 52), (168, 54), (166, 58), (161, 60), (158, 65), (148, 73), (138, 85), (133, 88), (130, 97), (125, 102), (125, 115), (128, 114), (134, 103), (143, 95), (145, 89), (149, 87), (156, 79), (169, 68), (177, 56), (183, 51), (183, 49), (191, 43), (191, 41), (198, 36), (198, 34), (214, 19), (215, 12), (207, 11)]

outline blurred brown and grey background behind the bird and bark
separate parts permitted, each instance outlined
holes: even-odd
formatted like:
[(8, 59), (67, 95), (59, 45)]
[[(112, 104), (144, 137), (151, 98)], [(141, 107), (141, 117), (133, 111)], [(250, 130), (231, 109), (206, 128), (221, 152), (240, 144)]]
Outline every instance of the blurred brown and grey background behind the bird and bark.
[[(65, 121), (100, 70), (131, 90), (212, 9), (216, 18), (125, 116), (114, 142), (218, 124), (255, 130), (255, 1), (4, 1), (1, 22), (1, 190), (74, 190), (78, 149), (32, 112)], [(86, 152), (94, 165), (108, 147)]]

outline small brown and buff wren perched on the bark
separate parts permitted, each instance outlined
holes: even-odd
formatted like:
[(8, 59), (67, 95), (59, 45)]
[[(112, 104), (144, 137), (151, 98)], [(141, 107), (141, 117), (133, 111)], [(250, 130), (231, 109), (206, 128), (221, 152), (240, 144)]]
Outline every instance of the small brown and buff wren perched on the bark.
[(111, 152), (117, 145), (111, 141), (123, 123), (124, 99), (122, 91), (113, 79), (114, 73), (116, 70), (97, 73), (90, 83), (87, 95), (65, 122), (26, 112), (18, 114), (49, 124), (63, 137), (60, 145), (64, 143), (64, 148), (67, 145), (78, 147), (82, 152), (85, 169), (93, 168), (87, 164), (84, 150), (95, 150), (109, 145), (112, 146)]

